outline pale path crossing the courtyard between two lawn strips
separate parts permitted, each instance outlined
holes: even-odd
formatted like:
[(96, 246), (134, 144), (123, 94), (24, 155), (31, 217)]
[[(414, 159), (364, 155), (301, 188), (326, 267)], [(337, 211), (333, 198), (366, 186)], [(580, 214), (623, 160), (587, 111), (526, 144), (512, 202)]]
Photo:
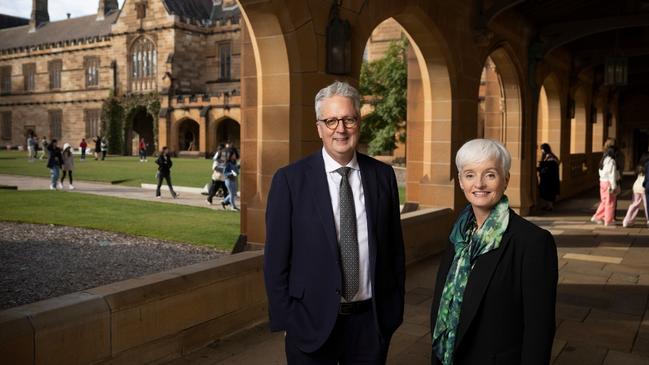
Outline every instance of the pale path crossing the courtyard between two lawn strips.
[[(49, 189), (50, 179), (32, 176), (0, 175), (0, 185), (16, 186), (18, 190), (46, 190)], [(212, 209), (222, 209), (221, 198), (214, 197), (214, 205), (206, 203), (205, 195), (194, 192), (184, 192), (182, 188), (175, 187), (180, 192), (178, 199), (173, 199), (169, 194), (166, 185), (163, 186), (161, 198), (155, 197), (155, 190), (142, 189), (133, 186), (112, 185), (101, 182), (75, 181), (74, 190), (68, 190), (68, 184), (65, 184), (65, 192), (95, 194), (104, 196), (113, 196), (126, 199), (137, 199), (156, 201), (162, 203), (191, 205), (196, 207), (207, 207)], [(195, 189), (193, 189), (195, 190)]]

